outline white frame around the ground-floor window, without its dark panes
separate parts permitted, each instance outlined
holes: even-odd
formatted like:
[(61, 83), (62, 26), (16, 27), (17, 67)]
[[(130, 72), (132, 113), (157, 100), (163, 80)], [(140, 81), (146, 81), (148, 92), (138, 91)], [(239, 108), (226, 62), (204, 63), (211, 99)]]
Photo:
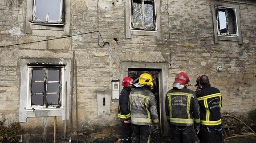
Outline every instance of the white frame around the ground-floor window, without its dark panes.
[[(57, 66), (58, 68), (61, 68), (61, 79), (60, 79), (60, 84), (61, 84), (61, 91), (60, 91), (60, 96), (61, 96), (61, 100), (60, 101), (63, 101), (64, 99), (64, 66)], [(52, 66), (28, 66), (28, 87), (27, 87), (27, 110), (31, 110), (31, 109), (53, 109), (53, 108), (57, 108), (57, 109), (61, 109), (63, 108), (63, 104), (61, 103), (61, 106), (57, 106), (57, 105), (51, 105), (49, 107), (45, 107), (45, 105), (41, 106), (41, 105), (31, 105), (31, 78), (32, 78), (32, 70), (34, 68), (45, 68), (45, 69), (52, 69), (53, 67)]]

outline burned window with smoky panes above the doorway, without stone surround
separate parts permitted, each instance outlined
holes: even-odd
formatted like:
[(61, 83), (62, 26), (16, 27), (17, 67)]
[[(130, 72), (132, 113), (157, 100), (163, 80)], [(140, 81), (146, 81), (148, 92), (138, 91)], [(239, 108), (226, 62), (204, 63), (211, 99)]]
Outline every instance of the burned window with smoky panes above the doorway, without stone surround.
[(131, 0), (132, 28), (155, 30), (154, 0)]

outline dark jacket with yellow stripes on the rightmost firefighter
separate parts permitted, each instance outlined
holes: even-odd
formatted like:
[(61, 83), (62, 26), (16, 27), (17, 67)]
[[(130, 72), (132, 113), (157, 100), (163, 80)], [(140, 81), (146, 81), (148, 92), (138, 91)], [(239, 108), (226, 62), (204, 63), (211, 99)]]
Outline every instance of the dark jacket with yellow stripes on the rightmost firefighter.
[(221, 127), (222, 97), (219, 89), (207, 84), (195, 93), (200, 107), (201, 124), (211, 128)]

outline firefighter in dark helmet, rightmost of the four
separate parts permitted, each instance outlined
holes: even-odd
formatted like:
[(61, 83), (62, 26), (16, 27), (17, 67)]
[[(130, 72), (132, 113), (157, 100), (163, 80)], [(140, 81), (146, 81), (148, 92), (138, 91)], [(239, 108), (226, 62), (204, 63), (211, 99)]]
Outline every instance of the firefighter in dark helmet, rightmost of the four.
[(200, 107), (200, 143), (222, 143), (221, 105), (222, 97), (219, 89), (211, 87), (206, 75), (199, 77), (196, 96)]

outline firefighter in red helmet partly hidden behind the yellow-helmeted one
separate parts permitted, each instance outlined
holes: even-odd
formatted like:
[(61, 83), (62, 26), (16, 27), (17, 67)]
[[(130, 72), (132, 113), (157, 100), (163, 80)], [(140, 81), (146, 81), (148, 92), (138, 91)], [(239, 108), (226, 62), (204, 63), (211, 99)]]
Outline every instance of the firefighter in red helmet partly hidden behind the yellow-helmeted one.
[(118, 117), (122, 120), (122, 143), (130, 143), (131, 124), (128, 100), (134, 81), (131, 77), (124, 77), (122, 80), (123, 89), (119, 96)]

